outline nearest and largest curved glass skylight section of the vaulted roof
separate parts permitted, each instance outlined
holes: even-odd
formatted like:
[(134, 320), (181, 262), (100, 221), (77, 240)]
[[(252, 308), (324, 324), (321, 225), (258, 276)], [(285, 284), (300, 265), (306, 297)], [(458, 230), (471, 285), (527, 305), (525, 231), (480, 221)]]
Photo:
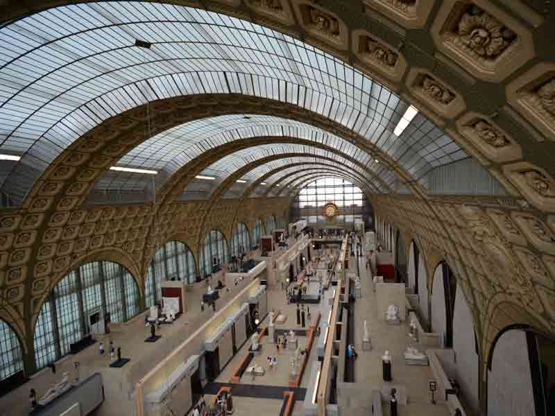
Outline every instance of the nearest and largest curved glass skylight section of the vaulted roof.
[[(416, 179), (466, 157), (422, 115), (410, 134), (393, 135), (407, 103), (357, 69), (218, 13), (86, 3), (13, 21), (0, 40), (0, 149), (24, 155), (2, 190), (19, 198), (95, 125), (147, 101), (188, 94), (246, 94), (305, 107), (366, 137)], [(135, 40), (153, 46), (139, 49)]]

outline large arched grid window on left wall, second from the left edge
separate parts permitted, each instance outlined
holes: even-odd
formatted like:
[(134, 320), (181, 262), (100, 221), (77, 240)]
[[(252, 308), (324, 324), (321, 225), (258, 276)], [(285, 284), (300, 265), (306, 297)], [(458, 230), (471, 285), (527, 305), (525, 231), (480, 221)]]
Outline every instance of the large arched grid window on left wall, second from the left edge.
[(110, 322), (125, 322), (139, 306), (137, 283), (121, 264), (92, 261), (71, 270), (40, 309), (33, 335), (37, 370), (69, 354), (90, 332), (89, 313), (101, 310)]

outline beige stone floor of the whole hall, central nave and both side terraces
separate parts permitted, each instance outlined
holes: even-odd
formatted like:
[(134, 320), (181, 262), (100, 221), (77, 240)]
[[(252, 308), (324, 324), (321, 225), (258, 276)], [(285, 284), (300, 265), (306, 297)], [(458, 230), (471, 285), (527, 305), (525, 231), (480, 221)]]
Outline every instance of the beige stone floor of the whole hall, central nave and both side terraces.
[[(362, 281), (362, 298), (355, 303), (355, 347), (359, 354), (359, 358), (355, 365), (355, 380), (357, 383), (368, 383), (370, 385), (382, 385), (382, 363), (381, 356), (385, 349), (391, 352), (393, 357), (393, 380), (407, 386), (409, 394), (409, 404), (407, 406), (400, 406), (400, 415), (447, 415), (447, 409), (443, 405), (432, 405), (429, 401), (429, 393), (427, 391), (428, 381), (432, 379), (432, 372), (429, 367), (411, 367), (404, 365), (402, 352), (409, 345), (409, 338), (407, 337), (407, 324), (403, 323), (398, 327), (392, 327), (377, 319), (375, 311), (375, 294), (373, 293), (369, 284), (370, 277), (368, 277), (365, 268), (365, 259), (359, 259), (361, 267), (361, 281)], [(356, 270), (355, 261), (350, 262), (351, 267)], [(236, 293), (244, 285), (235, 287), (231, 279), (227, 279), (225, 284)], [(154, 344), (144, 343), (144, 338), (148, 336), (149, 329), (144, 327), (144, 318), (139, 317), (136, 320), (126, 324), (121, 332), (112, 333), (112, 339), (117, 346), (121, 346), (123, 356), (129, 357), (134, 360), (139, 360), (148, 356), (153, 348), (165, 348), (168, 352), (173, 349), (173, 345), (167, 342), (167, 339), (177, 331), (189, 333), (195, 328), (189, 328), (189, 321), (194, 320), (200, 313), (200, 298), (205, 292), (206, 286), (204, 283), (196, 285), (194, 291), (188, 293), (189, 311), (185, 313), (175, 324), (163, 325), (158, 333), (162, 334), (162, 339)], [(309, 305), (311, 311), (311, 322), (316, 320), (318, 311), (320, 310), (319, 304)], [(268, 309), (281, 311), (287, 315), (287, 321), (284, 324), (276, 325), (276, 329), (302, 329), (296, 322), (296, 306), (294, 304), (287, 304), (286, 291), (280, 288), (268, 291)], [(368, 320), (368, 326), (372, 337), (373, 350), (363, 351), (361, 345), (362, 337), (362, 322)], [(268, 318), (264, 324), (267, 324)], [(308, 321), (308, 320), (307, 320)], [(307, 322), (305, 329), (309, 326)], [(299, 337), (301, 348), (304, 346), (305, 337)], [(107, 344), (107, 341), (105, 341)], [(293, 354), (292, 351), (280, 351), (278, 353), (275, 346), (269, 343), (269, 338), (265, 336), (262, 340), (263, 351), (260, 358), (257, 358), (257, 364), (266, 368), (264, 376), (257, 376), (255, 381), (250, 376), (244, 376), (241, 383), (256, 383), (258, 385), (287, 385), (289, 379), (290, 360)], [(235, 367), (237, 367), (240, 360), (246, 354), (248, 343), (238, 352), (238, 354), (230, 361), (230, 363), (223, 369), (222, 374), (217, 381), (227, 383)], [(274, 370), (269, 370), (266, 365), (266, 356), (276, 356), (278, 358), (278, 367)], [(311, 354), (309, 356), (309, 363), (307, 363), (307, 370), (302, 377), (300, 387), (306, 387), (309, 380), (309, 372), (311, 368), (311, 361), (316, 360), (316, 343), (313, 344)], [(86, 376), (87, 373), (97, 371), (99, 369), (106, 371), (110, 358), (107, 354), (100, 356), (98, 353), (98, 343), (80, 352), (77, 356), (71, 356), (64, 361), (58, 363), (57, 374), (51, 374), (50, 370), (43, 370), (35, 376), (29, 383), (26, 383), (21, 388), (11, 392), (9, 395), (0, 398), (0, 416), (17, 416), (26, 415), (28, 409), (28, 391), (30, 388), (35, 388), (39, 395), (42, 395), (49, 385), (59, 381), (62, 377), (62, 372), (69, 371), (74, 374), (73, 362), (80, 361), (80, 376)], [(155, 363), (153, 363), (153, 366)], [(125, 369), (125, 367), (123, 367)], [(112, 370), (112, 369), (110, 369)], [(114, 372), (122, 370), (114, 370)], [(114, 373), (115, 374), (115, 373)], [(109, 406), (121, 406), (117, 403), (117, 399), (123, 397), (123, 390), (121, 385), (117, 385), (117, 380), (121, 377), (114, 377), (114, 380), (107, 380), (107, 383), (113, 382), (114, 385), (108, 386), (106, 401), (101, 408)], [(207, 396), (207, 401), (212, 397)], [(282, 401), (276, 399), (258, 399), (252, 397), (236, 397), (234, 400), (235, 413), (234, 415), (253, 415), (257, 416), (274, 416), (278, 415)], [(6, 409), (8, 413), (6, 413)], [(123, 410), (123, 409), (122, 409)], [(385, 414), (388, 415), (388, 406), (384, 406)], [(121, 413), (126, 415), (125, 411)], [(133, 414), (133, 413), (130, 413)], [(296, 401), (294, 416), (302, 415), (302, 400)]]

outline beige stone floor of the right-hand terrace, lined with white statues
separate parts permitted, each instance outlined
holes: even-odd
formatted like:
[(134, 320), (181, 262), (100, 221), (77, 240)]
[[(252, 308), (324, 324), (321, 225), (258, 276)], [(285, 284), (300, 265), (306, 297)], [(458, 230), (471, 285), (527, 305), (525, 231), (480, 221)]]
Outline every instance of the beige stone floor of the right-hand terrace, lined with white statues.
[[(434, 379), (430, 367), (405, 365), (404, 351), (408, 346), (417, 347), (425, 352), (425, 347), (411, 342), (407, 322), (400, 325), (389, 325), (377, 316), (375, 293), (366, 270), (366, 256), (358, 258), (361, 278), (361, 298), (355, 302), (355, 349), (359, 354), (355, 361), (355, 382), (364, 383), (382, 390), (387, 385), (404, 385), (407, 389), (407, 405), (400, 405), (400, 416), (448, 416), (445, 404), (432, 404), (429, 393), (429, 381)], [(353, 261), (354, 263), (354, 261)], [(354, 271), (354, 270), (353, 270)], [(372, 349), (362, 349), (364, 320), (368, 321)], [(391, 355), (393, 381), (382, 379), (382, 356), (388, 350)], [(389, 389), (386, 389), (389, 390)], [(389, 415), (389, 405), (383, 402), (384, 415)]]

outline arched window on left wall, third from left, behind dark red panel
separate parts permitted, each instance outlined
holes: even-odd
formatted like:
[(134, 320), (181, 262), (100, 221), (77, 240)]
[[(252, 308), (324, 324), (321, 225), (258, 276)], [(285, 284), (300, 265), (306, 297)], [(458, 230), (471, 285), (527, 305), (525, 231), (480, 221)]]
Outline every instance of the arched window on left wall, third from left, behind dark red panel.
[(152, 306), (162, 299), (162, 280), (182, 280), (192, 284), (196, 281), (196, 263), (193, 252), (180, 241), (168, 241), (154, 254), (146, 271), (144, 302)]

